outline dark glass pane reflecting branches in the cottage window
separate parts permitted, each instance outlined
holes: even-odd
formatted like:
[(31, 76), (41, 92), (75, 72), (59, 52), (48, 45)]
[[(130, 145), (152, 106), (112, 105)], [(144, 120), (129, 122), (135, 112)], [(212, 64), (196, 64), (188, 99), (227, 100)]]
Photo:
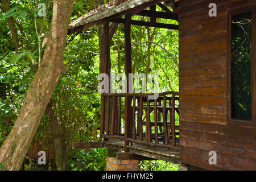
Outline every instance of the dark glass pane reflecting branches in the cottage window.
[(251, 120), (251, 15), (232, 16), (231, 118)]

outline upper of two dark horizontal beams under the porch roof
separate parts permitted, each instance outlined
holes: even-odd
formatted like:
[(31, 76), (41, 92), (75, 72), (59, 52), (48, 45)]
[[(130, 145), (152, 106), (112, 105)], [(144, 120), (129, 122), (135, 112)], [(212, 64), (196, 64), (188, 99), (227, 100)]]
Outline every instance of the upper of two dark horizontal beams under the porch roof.
[(178, 20), (179, 16), (176, 13), (167, 13), (167, 12), (161, 12), (161, 11), (149, 11), (149, 10), (142, 10), (137, 15), (141, 16), (147, 16), (150, 18), (164, 18), (164, 19), (174, 19)]

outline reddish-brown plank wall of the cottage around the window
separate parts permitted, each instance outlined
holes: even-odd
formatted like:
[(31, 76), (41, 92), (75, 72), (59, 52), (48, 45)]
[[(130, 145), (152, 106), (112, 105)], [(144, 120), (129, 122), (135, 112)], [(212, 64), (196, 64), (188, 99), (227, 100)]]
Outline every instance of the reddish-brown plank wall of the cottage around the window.
[[(217, 17), (209, 17), (209, 3)], [(255, 0), (181, 0), (179, 3), (180, 159), (205, 169), (256, 170), (255, 126), (226, 119), (227, 9)], [(209, 151), (217, 164), (208, 163)]]

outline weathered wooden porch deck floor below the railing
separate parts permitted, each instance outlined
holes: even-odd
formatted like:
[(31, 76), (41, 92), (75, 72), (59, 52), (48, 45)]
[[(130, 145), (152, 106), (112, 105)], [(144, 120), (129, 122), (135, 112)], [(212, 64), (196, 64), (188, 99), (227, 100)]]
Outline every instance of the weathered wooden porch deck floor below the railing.
[[(123, 141), (122, 140), (108, 140), (104, 142), (104, 147), (110, 148), (112, 150), (123, 151)], [(172, 150), (171, 148), (163, 147), (150, 147), (141, 144), (133, 143), (132, 146), (127, 146), (129, 151), (133, 154), (144, 156), (146, 158), (156, 159), (156, 160), (166, 160), (175, 164), (180, 164), (179, 151)]]

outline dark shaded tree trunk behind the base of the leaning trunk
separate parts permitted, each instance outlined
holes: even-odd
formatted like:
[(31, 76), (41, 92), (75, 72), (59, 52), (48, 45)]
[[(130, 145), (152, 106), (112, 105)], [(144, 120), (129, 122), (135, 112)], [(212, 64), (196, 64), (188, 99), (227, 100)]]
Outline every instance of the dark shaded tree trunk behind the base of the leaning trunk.
[(54, 111), (50, 105), (47, 106), (48, 114), (49, 114), (49, 124), (52, 130), (54, 148), (55, 148), (55, 162), (58, 171), (67, 171), (68, 163), (67, 163), (67, 150), (65, 147), (65, 140), (63, 136), (63, 132), (61, 131), (59, 120), (57, 119)]

